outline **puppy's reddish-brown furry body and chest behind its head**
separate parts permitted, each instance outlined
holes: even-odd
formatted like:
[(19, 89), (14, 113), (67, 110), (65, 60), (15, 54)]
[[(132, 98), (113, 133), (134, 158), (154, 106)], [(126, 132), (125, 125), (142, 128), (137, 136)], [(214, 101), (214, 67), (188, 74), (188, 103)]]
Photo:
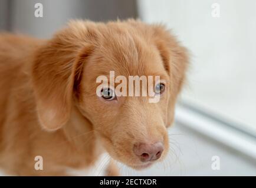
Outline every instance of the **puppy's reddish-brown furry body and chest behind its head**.
[[(76, 112), (66, 130), (41, 129), (29, 69), (31, 55), (44, 42), (25, 36), (0, 36), (0, 164), (8, 174), (61, 175), (68, 168), (93, 166), (102, 152), (90, 123)], [(81, 123), (85, 126), (76, 127)], [(35, 156), (43, 157), (43, 170), (35, 170)]]

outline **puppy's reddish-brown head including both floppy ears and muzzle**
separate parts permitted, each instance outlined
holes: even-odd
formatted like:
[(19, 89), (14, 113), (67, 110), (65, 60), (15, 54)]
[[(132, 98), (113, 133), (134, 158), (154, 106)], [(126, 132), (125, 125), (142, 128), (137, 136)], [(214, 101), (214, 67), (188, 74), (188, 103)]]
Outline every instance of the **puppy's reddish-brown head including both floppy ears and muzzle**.
[[(149, 166), (168, 152), (166, 128), (187, 64), (186, 49), (163, 26), (71, 22), (38, 51), (32, 67), (41, 125), (60, 129), (76, 106), (110, 156), (134, 169)], [(139, 96), (129, 76), (146, 78)], [(150, 102), (150, 87), (156, 102)]]

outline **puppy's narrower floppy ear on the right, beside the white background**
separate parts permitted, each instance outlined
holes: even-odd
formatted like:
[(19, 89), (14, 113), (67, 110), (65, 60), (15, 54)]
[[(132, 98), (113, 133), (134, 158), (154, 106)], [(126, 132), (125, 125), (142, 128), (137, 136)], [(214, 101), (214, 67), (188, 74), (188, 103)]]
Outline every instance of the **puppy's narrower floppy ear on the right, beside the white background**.
[(168, 106), (168, 125), (173, 122), (175, 102), (185, 80), (189, 64), (189, 55), (165, 27), (155, 26), (155, 43), (159, 49), (163, 64), (170, 76), (170, 97)]

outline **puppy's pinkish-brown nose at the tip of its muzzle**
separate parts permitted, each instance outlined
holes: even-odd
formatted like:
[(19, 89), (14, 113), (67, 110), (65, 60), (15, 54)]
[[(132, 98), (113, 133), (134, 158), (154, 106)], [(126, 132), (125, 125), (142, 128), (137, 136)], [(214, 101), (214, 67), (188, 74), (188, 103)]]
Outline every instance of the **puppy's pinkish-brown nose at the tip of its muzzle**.
[(163, 153), (163, 143), (154, 144), (139, 143), (134, 145), (134, 153), (142, 162), (157, 160)]

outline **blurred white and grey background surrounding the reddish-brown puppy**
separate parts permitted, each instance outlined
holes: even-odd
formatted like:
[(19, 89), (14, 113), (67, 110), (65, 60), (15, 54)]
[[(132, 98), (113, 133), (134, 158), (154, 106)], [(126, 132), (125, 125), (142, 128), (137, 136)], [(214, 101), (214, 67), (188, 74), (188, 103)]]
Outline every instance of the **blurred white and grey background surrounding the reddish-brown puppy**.
[(38, 38), (69, 19), (117, 18), (165, 24), (191, 53), (168, 158), (137, 172), (119, 164), (122, 174), (256, 176), (256, 1), (0, 0), (0, 31)]

